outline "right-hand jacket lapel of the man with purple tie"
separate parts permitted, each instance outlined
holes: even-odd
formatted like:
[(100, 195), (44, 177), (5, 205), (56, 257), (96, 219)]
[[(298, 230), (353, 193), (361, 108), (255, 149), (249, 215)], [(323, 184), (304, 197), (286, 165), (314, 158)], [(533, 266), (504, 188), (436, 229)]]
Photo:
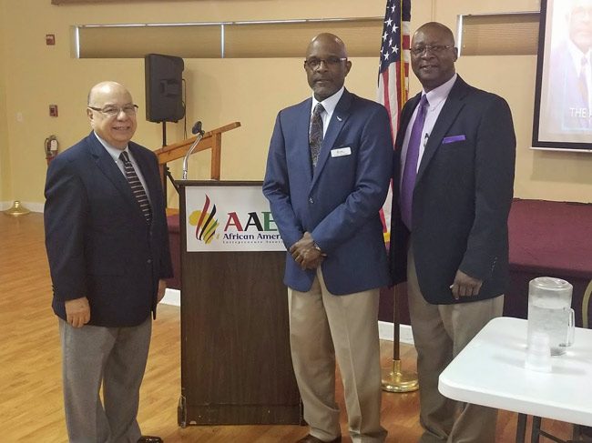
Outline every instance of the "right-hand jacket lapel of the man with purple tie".
[(425, 169), (430, 164), (432, 158), (434, 158), (434, 154), (437, 149), (442, 145), (442, 139), (444, 138), (444, 135), (450, 126), (452, 126), (454, 120), (456, 120), (456, 116), (458, 116), (458, 113), (463, 108), (465, 95), (466, 83), (464, 83), (464, 80), (458, 76), (454, 82), (453, 88), (450, 90), (450, 93), (446, 98), (446, 102), (444, 103), (442, 110), (440, 111), (440, 115), (435, 122), (432, 133), (427, 139), (424, 156), (422, 157), (422, 162), (419, 166), (419, 170), (417, 171), (417, 178), (415, 180), (416, 183), (422, 179)]

